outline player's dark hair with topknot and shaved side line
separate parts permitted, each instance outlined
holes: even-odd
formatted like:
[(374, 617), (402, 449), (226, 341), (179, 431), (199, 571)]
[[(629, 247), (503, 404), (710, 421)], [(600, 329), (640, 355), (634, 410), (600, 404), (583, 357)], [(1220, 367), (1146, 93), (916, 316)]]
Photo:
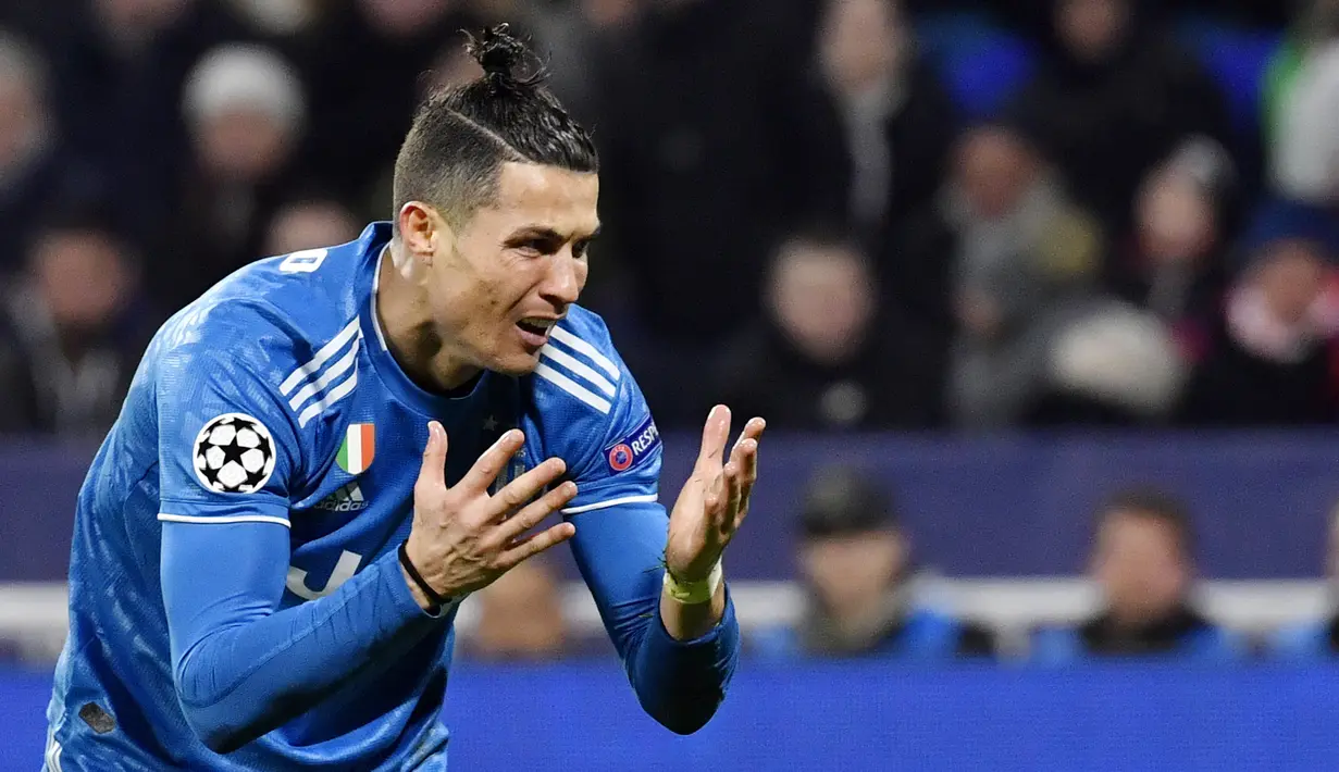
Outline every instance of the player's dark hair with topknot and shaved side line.
[[(506, 24), (467, 35), (483, 75), (428, 95), (395, 159), (394, 198), (437, 206), (453, 223), (497, 197), (506, 162), (599, 171), (595, 142), (544, 86), (545, 71)], [(398, 217), (395, 218), (398, 222)]]

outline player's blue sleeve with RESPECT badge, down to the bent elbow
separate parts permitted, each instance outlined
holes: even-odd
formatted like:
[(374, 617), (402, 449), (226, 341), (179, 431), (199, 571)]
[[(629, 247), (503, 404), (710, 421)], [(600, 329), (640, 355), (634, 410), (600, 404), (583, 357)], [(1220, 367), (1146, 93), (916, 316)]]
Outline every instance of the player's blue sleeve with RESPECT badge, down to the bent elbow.
[[(577, 496), (572, 554), (643, 709), (676, 733), (696, 732), (724, 698), (739, 658), (726, 587), (720, 622), (679, 641), (660, 617), (668, 516), (659, 502), (660, 433), (604, 324), (556, 326), (536, 371), (546, 455), (568, 462)], [(584, 324), (582, 324), (584, 322)], [(546, 408), (546, 409), (545, 409)]]

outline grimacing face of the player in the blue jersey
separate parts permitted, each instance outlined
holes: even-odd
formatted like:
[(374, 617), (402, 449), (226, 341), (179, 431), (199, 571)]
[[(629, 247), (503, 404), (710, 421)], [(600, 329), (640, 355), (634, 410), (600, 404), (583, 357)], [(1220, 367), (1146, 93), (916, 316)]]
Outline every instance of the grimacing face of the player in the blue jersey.
[(585, 286), (599, 193), (595, 174), (506, 163), (497, 201), (435, 230), (427, 297), (453, 353), (503, 375), (536, 368)]

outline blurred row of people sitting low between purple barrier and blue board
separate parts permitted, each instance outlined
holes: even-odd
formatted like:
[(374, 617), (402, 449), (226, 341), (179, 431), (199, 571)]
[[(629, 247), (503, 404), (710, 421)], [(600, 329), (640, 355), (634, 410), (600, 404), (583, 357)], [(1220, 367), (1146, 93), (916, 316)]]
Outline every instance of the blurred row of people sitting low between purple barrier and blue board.
[[(794, 515), (802, 607), (791, 622), (744, 633), (746, 656), (755, 662), (1339, 661), (1339, 606), (1324, 618), (1267, 630), (1212, 618), (1197, 602), (1194, 514), (1165, 490), (1118, 491), (1095, 512), (1087, 557), (1097, 591), (1091, 615), (1020, 632), (963, 617), (936, 595), (884, 482), (840, 464), (822, 467)], [(1330, 533), (1318, 538), (1328, 545), (1328, 582), (1339, 586), (1339, 504), (1328, 522)], [(534, 662), (612, 652), (603, 633), (577, 633), (564, 617), (549, 566), (522, 569), (470, 601), (478, 617), (459, 646), (463, 658)]]

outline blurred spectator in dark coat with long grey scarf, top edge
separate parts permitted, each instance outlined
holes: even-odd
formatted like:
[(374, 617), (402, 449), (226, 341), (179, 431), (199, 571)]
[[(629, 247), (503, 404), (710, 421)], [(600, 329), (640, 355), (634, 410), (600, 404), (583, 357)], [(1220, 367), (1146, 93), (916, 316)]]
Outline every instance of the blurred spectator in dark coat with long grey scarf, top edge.
[(805, 108), (789, 118), (795, 162), (809, 165), (809, 210), (873, 246), (939, 190), (956, 111), (897, 0), (829, 0), (818, 41), (815, 94), (790, 103)]

